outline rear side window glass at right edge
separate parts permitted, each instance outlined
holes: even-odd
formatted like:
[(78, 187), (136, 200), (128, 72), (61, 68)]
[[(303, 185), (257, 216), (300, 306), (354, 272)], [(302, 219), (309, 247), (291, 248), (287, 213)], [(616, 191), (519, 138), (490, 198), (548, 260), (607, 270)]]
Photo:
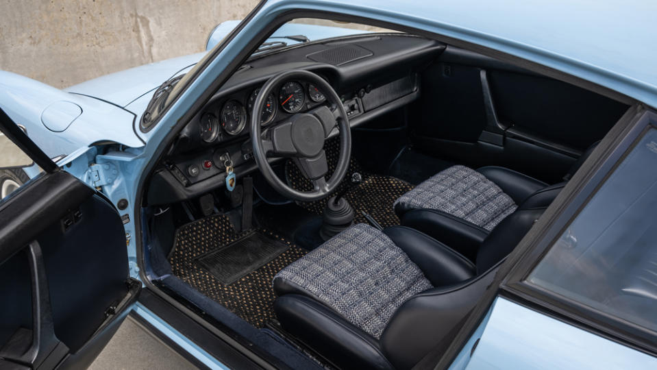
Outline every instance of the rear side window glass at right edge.
[(656, 168), (650, 129), (528, 282), (657, 332)]

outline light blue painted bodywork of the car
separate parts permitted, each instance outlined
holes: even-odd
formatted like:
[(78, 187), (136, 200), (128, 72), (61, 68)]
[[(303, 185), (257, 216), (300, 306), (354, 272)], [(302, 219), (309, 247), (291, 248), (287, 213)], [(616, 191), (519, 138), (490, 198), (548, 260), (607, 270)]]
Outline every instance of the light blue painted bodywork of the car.
[[(58, 90), (26, 77), (0, 72), (0, 106), (28, 136), (51, 156), (68, 155), (58, 162), (90, 186), (101, 188), (116, 203), (128, 199), (134, 204), (137, 184), (153, 154), (171, 127), (192, 106), (201, 93), (237, 58), (247, 42), (287, 12), (320, 11), (349, 14), (376, 21), (462, 40), (501, 51), (548, 69), (580, 77), (598, 86), (615, 90), (647, 106), (657, 107), (657, 27), (652, 1), (392, 1), (362, 0), (270, 0), (230, 40), (221, 43), (238, 24), (222, 23), (211, 34), (207, 48), (221, 47), (198, 77), (149, 132), (138, 129), (140, 115), (153, 91), (166, 79), (185, 73), (204, 53), (140, 66), (92, 79)], [(286, 24), (272, 36), (297, 34), (315, 38), (360, 33), (354, 29)], [(275, 39), (281, 40), (281, 39)], [(288, 45), (293, 40), (286, 40)], [(221, 44), (221, 45), (220, 45)], [(88, 95), (88, 96), (86, 96)], [(42, 112), (58, 101), (69, 101), (82, 110), (66, 129), (54, 132), (42, 123)], [(71, 110), (67, 106), (65, 110)], [(74, 111), (74, 110), (73, 110)], [(49, 117), (58, 117), (53, 114)], [(70, 112), (60, 119), (71, 117)], [(55, 123), (54, 126), (57, 126)], [(95, 143), (119, 143), (123, 150), (97, 155)], [(134, 220), (140, 214), (127, 208)], [(134, 223), (125, 225), (131, 273), (138, 277)], [(144, 243), (147, 243), (145, 240)], [(148, 246), (145, 245), (145, 248)], [(138, 308), (173, 341), (197, 354), (210, 368), (222, 368), (168, 324)], [(471, 358), (471, 348), (479, 339)], [(508, 345), (501, 345), (508, 343)], [(573, 349), (576, 343), (577, 351)], [(540, 356), (537, 360), (528, 354)], [(582, 354), (595, 354), (584, 356)], [(551, 319), (498, 298), (464, 346), (453, 369), (489, 368), (625, 368), (657, 367), (656, 358), (620, 345), (572, 325)]]

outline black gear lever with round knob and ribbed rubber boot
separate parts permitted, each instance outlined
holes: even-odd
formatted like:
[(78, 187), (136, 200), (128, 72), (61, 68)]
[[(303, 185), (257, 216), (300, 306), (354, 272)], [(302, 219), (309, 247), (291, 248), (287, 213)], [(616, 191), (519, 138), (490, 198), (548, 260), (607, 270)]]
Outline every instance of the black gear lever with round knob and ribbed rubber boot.
[[(351, 184), (358, 186), (362, 182), (362, 176), (358, 172), (351, 175)], [(344, 198), (351, 186), (346, 186), (343, 190), (331, 197), (324, 208), (322, 215), (322, 226), (319, 229), (319, 236), (326, 241), (335, 234), (345, 230), (354, 223), (354, 210)]]

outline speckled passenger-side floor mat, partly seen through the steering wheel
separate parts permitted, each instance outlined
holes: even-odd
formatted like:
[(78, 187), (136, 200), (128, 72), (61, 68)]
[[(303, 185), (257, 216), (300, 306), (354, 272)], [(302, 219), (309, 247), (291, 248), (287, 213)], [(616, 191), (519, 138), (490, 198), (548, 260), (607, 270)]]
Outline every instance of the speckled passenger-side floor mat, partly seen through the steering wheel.
[[(328, 162), (329, 174), (336, 169), (339, 156), (339, 142), (336, 138), (327, 140), (324, 145), (326, 158)], [(354, 172), (360, 173), (362, 182), (358, 186), (351, 184), (351, 175)], [(312, 190), (312, 184), (301, 174), (299, 169), (292, 162), (287, 162), (285, 167), (286, 180), (290, 186), (297, 190), (309, 191)], [(345, 180), (338, 185), (334, 193), (349, 188), (345, 193), (345, 199), (349, 201), (351, 207), (356, 211), (354, 222), (367, 223), (367, 220), (362, 216), (361, 211), (367, 212), (377, 223), (383, 227), (399, 225), (399, 217), (395, 214), (393, 204), (397, 198), (401, 197), (413, 186), (403, 180), (395, 177), (373, 175), (363, 171), (360, 164), (352, 157), (349, 160), (349, 169)], [(322, 214), (327, 198), (319, 201), (299, 202), (299, 206), (306, 208), (310, 212)]]

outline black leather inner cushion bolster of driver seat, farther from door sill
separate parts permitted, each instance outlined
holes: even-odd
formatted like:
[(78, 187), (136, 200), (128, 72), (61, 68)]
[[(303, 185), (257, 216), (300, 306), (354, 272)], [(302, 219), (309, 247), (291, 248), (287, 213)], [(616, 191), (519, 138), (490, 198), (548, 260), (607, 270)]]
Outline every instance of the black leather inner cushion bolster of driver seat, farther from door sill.
[(405, 226), (383, 232), (422, 270), (433, 286), (457, 284), (473, 277), (475, 265), (438, 240)]

